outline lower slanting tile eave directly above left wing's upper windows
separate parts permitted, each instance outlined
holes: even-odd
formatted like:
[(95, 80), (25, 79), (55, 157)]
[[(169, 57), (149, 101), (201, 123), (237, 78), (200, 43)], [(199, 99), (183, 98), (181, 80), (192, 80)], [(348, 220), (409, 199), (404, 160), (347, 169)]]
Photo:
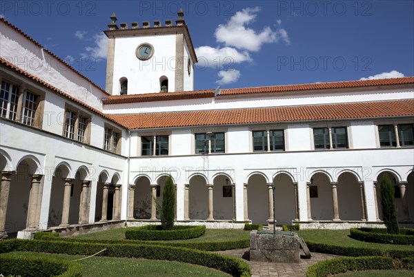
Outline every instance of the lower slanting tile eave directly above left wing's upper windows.
[(107, 114), (103, 114), (103, 112), (95, 109), (95, 107), (91, 107), (90, 105), (83, 103), (82, 101), (79, 101), (75, 97), (71, 96), (70, 94), (67, 94), (66, 92), (63, 92), (59, 90), (58, 88), (54, 87), (53, 85), (50, 85), (50, 83), (47, 83), (46, 81), (43, 81), (42, 79), (39, 79), (37, 76), (34, 76), (25, 70), (22, 70), (21, 68), (18, 68), (16, 65), (9, 63), (5, 59), (2, 59), (0, 57), (0, 65), (4, 65), (7, 68), (10, 68), (11, 70), (14, 70), (15, 72), (18, 72), (19, 74), (22, 74), (23, 76), (28, 77), (28, 79), (31, 79), (32, 81), (35, 81), (36, 83), (39, 83), (40, 85), (43, 85), (46, 88), (49, 88), (50, 90), (56, 92), (57, 94), (60, 94), (61, 96), (65, 97), (66, 99), (70, 99), (71, 101), (78, 103), (79, 105), (82, 105), (83, 107), (86, 107), (91, 112), (94, 112), (95, 114), (99, 114), (105, 119), (108, 119), (110, 121), (113, 121), (114, 123), (117, 123), (118, 125), (121, 125), (122, 127), (126, 127), (125, 125), (122, 125), (121, 123), (115, 121), (112, 119), (112, 117), (108, 116)]

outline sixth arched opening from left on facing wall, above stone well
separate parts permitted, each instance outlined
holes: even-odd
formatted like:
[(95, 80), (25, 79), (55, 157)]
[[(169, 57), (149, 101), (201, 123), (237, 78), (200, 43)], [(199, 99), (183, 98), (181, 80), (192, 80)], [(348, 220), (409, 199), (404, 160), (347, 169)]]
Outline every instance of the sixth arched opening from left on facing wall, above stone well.
[(275, 185), (275, 220), (277, 225), (290, 225), (295, 220), (295, 187), (292, 178), (280, 173), (273, 178)]

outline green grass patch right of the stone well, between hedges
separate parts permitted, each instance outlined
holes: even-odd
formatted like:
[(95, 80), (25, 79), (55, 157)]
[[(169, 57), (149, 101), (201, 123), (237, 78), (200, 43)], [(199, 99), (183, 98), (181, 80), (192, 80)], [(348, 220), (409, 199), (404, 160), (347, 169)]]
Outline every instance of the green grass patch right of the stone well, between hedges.
[(413, 245), (388, 245), (384, 243), (366, 243), (360, 240), (350, 238), (350, 232), (346, 230), (299, 230), (299, 236), (302, 236), (305, 241), (312, 243), (325, 243), (328, 245), (346, 246), (346, 247), (362, 247), (369, 249), (381, 250), (414, 250)]

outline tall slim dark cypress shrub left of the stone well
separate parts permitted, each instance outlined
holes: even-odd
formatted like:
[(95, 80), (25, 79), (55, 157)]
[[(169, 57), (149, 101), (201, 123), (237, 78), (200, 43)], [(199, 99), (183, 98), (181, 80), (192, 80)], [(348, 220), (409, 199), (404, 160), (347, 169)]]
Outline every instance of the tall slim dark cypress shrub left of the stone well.
[(164, 191), (162, 192), (162, 207), (161, 207), (161, 226), (163, 230), (172, 230), (174, 227), (175, 218), (175, 192), (172, 178), (167, 177), (164, 183)]

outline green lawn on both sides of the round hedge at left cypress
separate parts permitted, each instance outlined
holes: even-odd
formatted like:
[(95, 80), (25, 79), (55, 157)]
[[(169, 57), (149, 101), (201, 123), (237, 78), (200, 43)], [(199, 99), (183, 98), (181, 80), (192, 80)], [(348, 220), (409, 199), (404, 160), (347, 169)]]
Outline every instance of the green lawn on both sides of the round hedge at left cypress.
[[(226, 241), (237, 240), (240, 238), (248, 238), (250, 231), (244, 231), (242, 229), (206, 229), (206, 233), (199, 238), (191, 238), (184, 241)], [(125, 228), (112, 229), (92, 234), (84, 234), (76, 236), (81, 239), (103, 239), (103, 240), (116, 240), (125, 239)], [(168, 240), (170, 242), (180, 242), (183, 240)]]

